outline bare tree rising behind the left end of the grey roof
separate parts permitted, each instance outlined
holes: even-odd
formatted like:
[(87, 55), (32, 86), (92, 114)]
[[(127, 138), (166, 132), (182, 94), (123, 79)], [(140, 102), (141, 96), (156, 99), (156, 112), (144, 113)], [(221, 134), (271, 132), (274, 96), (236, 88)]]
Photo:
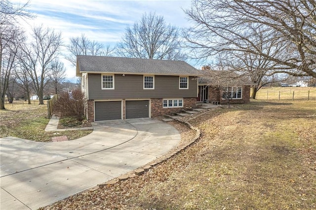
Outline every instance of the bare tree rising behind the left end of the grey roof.
[(67, 45), (67, 48), (70, 54), (65, 55), (65, 58), (74, 66), (77, 63), (77, 55), (111, 56), (114, 51), (110, 45), (104, 47), (102, 43), (91, 41), (84, 34), (70, 38), (70, 44)]

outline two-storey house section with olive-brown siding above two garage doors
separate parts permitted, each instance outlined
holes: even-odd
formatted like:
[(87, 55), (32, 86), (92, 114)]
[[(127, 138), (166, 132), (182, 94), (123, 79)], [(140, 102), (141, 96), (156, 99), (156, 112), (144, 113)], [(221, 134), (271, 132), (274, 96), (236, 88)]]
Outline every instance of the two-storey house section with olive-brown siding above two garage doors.
[(184, 61), (77, 56), (89, 121), (156, 117), (196, 105), (200, 71)]

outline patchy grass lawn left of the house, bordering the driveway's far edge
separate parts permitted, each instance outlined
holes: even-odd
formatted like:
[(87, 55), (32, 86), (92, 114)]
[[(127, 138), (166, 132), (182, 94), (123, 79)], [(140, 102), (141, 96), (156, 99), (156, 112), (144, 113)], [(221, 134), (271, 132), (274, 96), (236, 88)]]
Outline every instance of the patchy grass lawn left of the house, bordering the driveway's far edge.
[(49, 122), (47, 118), (47, 105), (31, 105), (22, 102), (6, 104), (5, 110), (0, 110), (0, 137), (17, 137), (35, 141), (51, 141), (52, 137), (67, 136), (68, 140), (86, 136), (92, 130), (45, 132)]

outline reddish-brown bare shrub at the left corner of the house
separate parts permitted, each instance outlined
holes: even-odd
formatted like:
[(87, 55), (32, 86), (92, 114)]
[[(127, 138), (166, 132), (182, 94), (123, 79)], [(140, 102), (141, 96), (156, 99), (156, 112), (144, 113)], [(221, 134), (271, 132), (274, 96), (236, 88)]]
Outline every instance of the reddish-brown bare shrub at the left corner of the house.
[(59, 94), (57, 103), (54, 104), (54, 113), (60, 113), (60, 117), (75, 117), (77, 121), (84, 119), (84, 94), (79, 89), (72, 92)]

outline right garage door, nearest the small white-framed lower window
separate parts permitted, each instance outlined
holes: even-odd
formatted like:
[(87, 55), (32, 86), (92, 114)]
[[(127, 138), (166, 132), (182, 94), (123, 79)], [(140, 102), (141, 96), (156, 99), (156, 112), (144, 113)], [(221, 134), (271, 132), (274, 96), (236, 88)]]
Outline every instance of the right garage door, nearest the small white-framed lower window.
[(126, 119), (149, 117), (149, 100), (126, 101)]

